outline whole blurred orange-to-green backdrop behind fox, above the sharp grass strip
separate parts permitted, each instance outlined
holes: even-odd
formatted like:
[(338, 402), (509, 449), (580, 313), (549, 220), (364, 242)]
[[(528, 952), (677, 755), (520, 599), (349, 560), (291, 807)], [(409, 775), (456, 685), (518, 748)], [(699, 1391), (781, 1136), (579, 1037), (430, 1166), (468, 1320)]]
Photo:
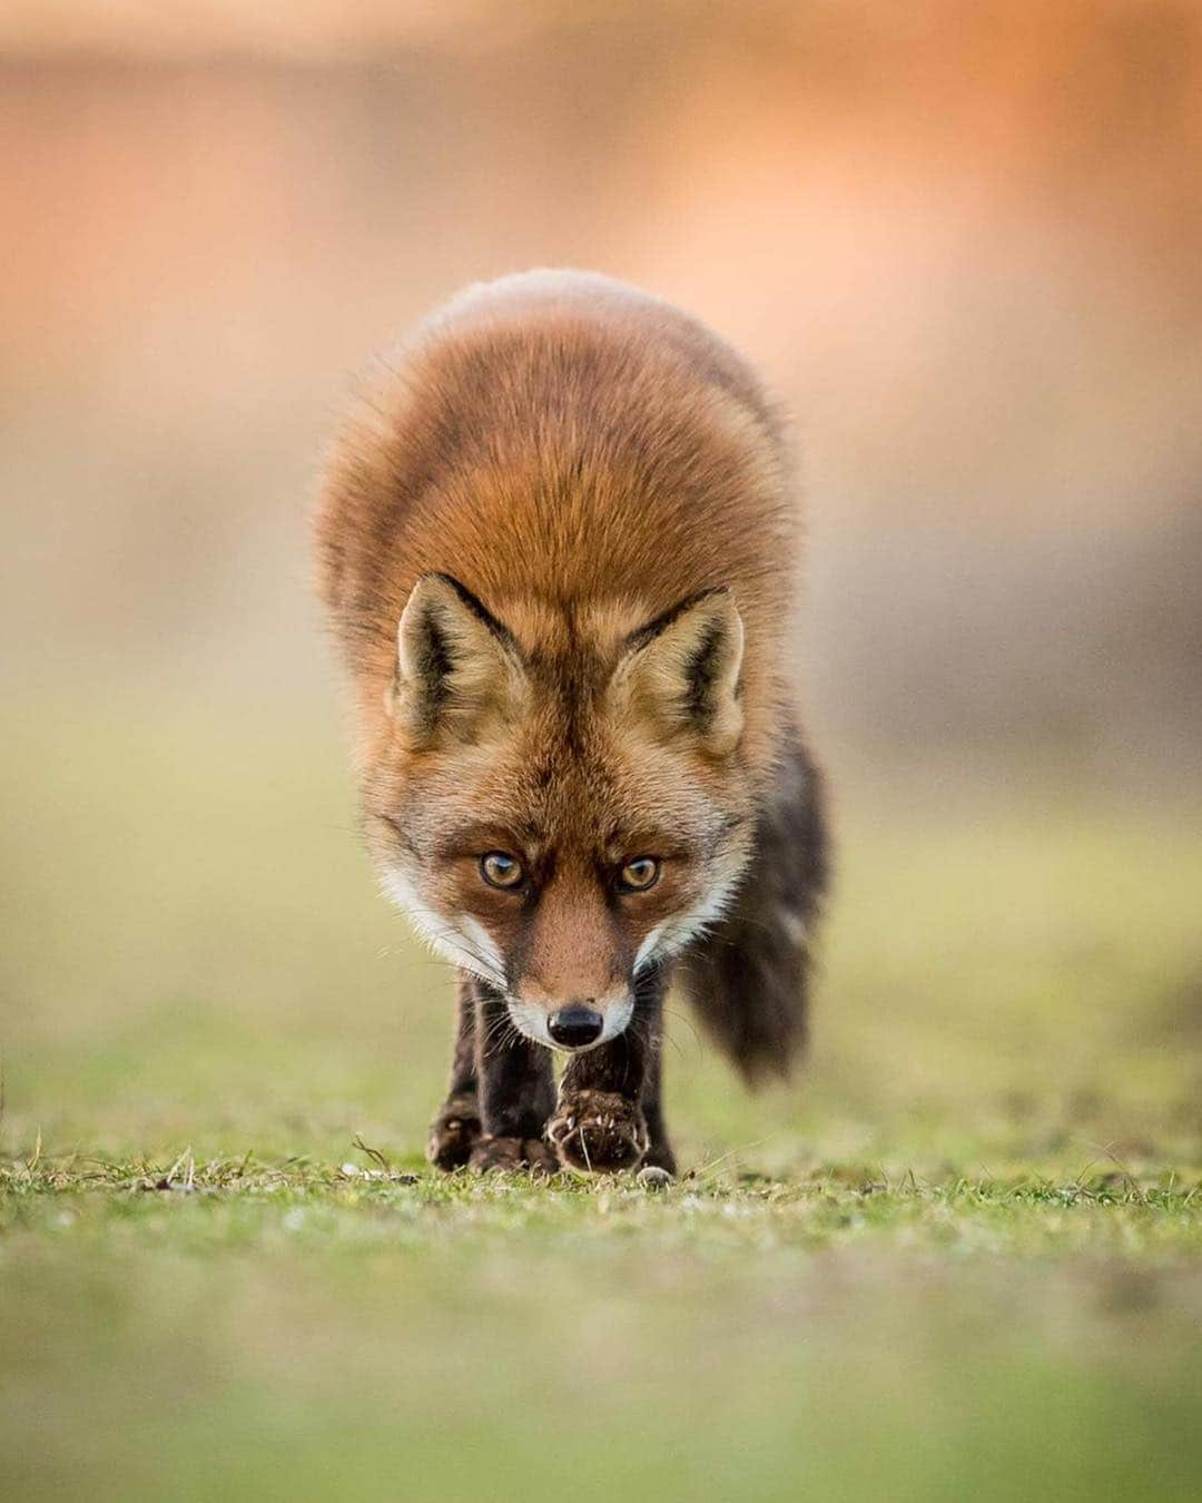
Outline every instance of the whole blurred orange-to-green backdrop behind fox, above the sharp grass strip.
[(0, 59), (14, 1142), (252, 1096), (419, 1147), (448, 983), (356, 846), (307, 507), (370, 352), (532, 265), (696, 311), (804, 452), (814, 1066), (748, 1106), (681, 1025), (684, 1132), (1196, 1132), (1196, 6), (17, 0)]

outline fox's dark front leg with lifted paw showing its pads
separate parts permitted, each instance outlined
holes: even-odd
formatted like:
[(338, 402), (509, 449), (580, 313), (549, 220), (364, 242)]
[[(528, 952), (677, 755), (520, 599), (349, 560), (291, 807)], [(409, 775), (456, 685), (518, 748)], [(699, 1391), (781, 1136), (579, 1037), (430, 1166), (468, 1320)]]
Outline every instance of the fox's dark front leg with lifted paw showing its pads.
[(660, 1103), (661, 1012), (661, 981), (652, 977), (639, 989), (624, 1034), (572, 1055), (547, 1123), (547, 1139), (565, 1169), (634, 1169), (651, 1156), (672, 1171)]

